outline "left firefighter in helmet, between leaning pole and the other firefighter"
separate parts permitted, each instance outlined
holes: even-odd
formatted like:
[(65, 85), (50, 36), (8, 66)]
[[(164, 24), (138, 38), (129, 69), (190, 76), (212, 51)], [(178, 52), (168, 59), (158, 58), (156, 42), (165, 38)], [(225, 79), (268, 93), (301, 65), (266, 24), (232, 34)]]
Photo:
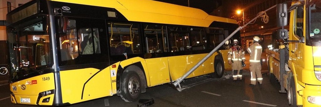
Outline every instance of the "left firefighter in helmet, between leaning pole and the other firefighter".
[(242, 81), (242, 61), (245, 62), (244, 51), (238, 44), (239, 41), (234, 39), (233, 46), (230, 48), (228, 53), (229, 64), (232, 65), (233, 70), (233, 81), (236, 81), (237, 78), (240, 78)]

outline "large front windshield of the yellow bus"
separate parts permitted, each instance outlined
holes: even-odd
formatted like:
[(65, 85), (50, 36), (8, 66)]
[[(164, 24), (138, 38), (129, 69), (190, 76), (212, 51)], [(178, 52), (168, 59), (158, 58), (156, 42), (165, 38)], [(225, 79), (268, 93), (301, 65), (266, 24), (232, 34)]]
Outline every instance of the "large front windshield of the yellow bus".
[[(50, 65), (49, 35), (46, 25), (40, 18), (39, 22), (30, 22), (25, 27), (15, 27), (8, 33), (11, 63), (11, 79), (21, 80), (31, 76), (43, 74)], [(14, 42), (16, 40), (16, 43)], [(40, 71), (41, 70), (41, 71)]]

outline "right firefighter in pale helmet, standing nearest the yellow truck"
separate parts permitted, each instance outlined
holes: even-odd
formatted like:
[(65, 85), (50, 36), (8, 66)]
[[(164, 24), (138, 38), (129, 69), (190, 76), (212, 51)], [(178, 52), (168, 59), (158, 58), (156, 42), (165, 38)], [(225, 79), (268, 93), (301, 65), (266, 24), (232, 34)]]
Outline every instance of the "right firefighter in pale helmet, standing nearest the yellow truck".
[(253, 38), (253, 44), (247, 48), (247, 52), (250, 53), (250, 72), (251, 72), (251, 84), (256, 85), (256, 78), (259, 85), (262, 85), (262, 73), (261, 73), (261, 54), (262, 46), (259, 44), (260, 38), (255, 36)]

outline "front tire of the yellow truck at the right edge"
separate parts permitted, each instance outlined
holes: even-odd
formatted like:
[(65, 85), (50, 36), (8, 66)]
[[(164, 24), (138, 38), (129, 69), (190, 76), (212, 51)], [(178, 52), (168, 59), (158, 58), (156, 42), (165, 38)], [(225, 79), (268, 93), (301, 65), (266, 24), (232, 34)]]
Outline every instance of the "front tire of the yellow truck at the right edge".
[(297, 107), (297, 94), (296, 94), (295, 84), (293, 77), (291, 78), (291, 84), (288, 90), (288, 100), (289, 105), (292, 105), (293, 107)]

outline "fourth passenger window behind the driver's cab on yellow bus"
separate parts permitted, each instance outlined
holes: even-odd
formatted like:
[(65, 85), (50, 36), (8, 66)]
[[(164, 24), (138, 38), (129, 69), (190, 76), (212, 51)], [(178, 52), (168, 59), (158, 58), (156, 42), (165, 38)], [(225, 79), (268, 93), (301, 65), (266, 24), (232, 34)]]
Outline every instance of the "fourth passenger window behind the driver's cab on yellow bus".
[(191, 28), (192, 50), (206, 49), (206, 37), (203, 28)]

